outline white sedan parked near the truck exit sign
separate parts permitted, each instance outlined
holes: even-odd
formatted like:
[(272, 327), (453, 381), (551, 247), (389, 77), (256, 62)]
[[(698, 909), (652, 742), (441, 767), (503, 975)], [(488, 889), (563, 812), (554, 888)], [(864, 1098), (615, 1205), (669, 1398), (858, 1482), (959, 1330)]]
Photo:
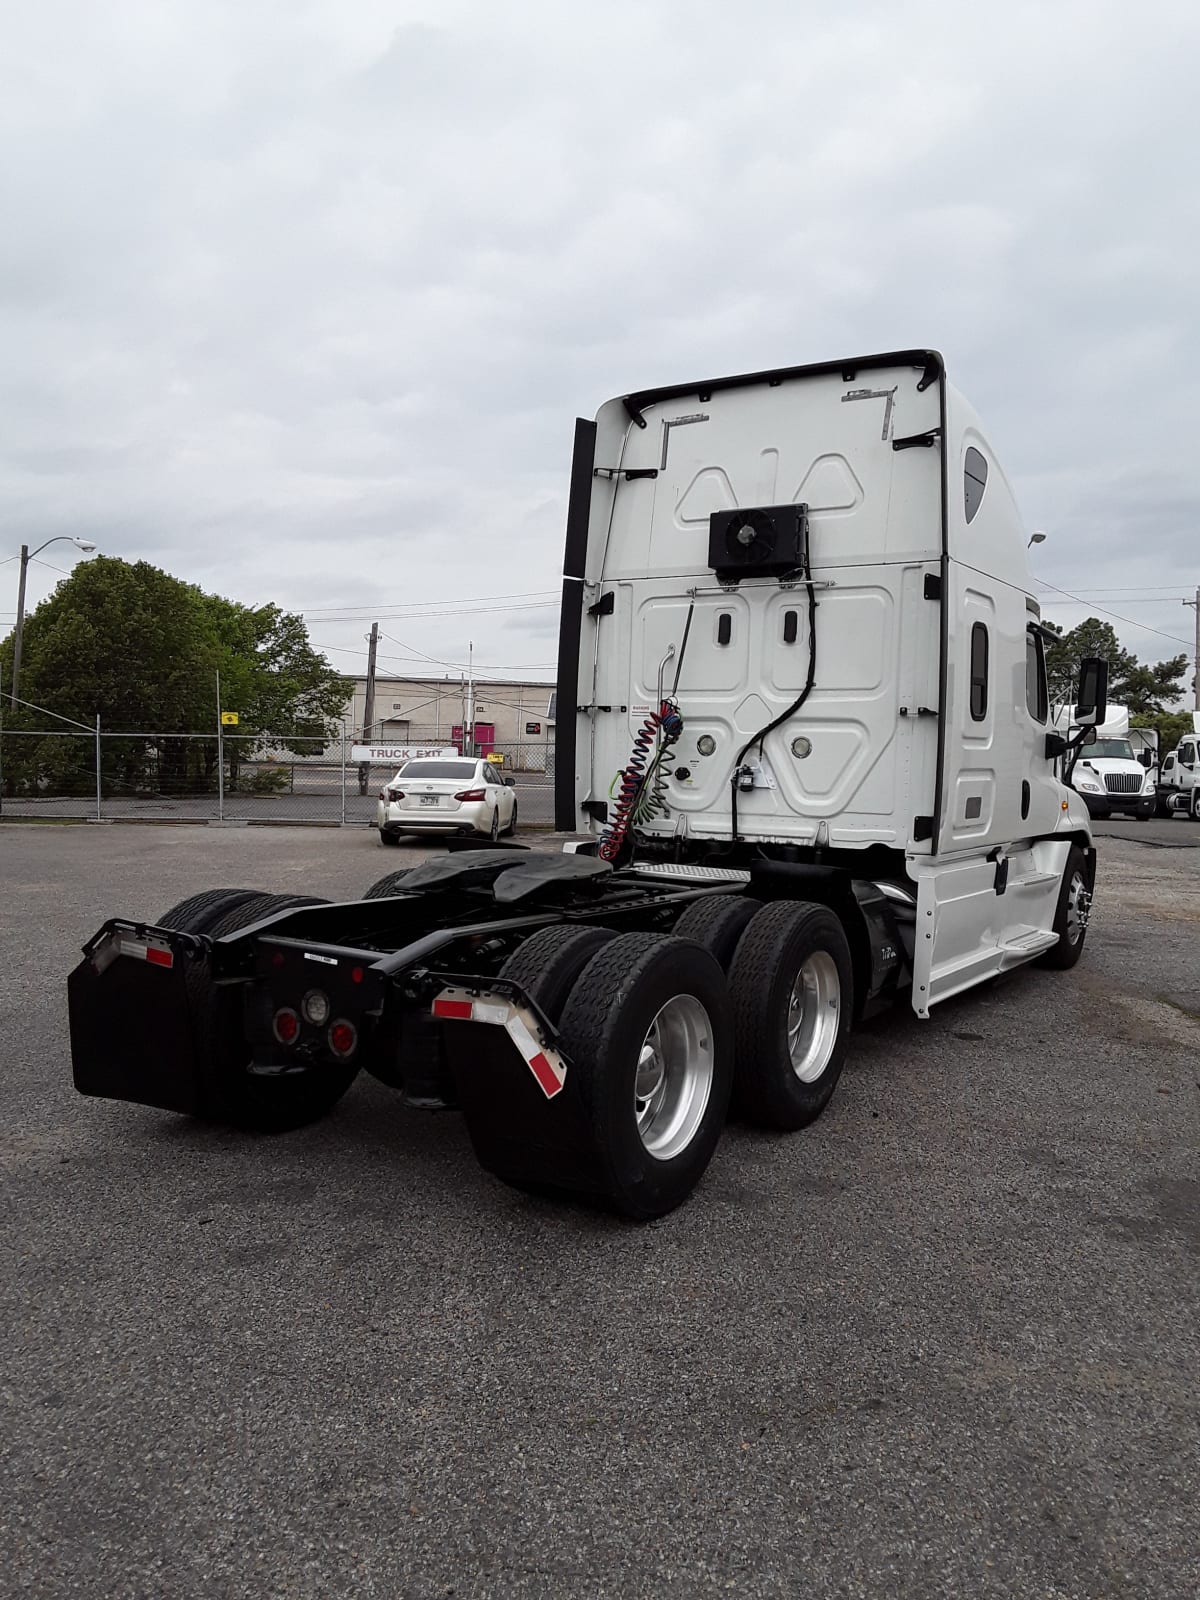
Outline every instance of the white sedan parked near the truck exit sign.
[(499, 838), (517, 832), (517, 795), (493, 762), (466, 755), (405, 762), (379, 790), (374, 826), (384, 845), (398, 845), (402, 834)]

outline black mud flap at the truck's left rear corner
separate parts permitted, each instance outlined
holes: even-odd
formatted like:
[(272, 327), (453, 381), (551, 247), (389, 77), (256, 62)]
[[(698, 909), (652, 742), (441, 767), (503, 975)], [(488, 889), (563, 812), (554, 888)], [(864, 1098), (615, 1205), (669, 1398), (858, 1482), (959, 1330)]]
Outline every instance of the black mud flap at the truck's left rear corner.
[(187, 970), (206, 960), (189, 934), (106, 923), (67, 979), (70, 1064), (80, 1094), (200, 1110)]

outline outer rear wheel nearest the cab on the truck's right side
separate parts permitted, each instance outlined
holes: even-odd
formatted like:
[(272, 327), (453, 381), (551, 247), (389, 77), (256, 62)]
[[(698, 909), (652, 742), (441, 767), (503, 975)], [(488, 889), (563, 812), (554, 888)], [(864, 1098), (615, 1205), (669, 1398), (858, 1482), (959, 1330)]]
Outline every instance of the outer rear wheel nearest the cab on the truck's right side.
[(842, 922), (811, 901), (766, 906), (738, 942), (730, 994), (738, 1112), (760, 1128), (806, 1128), (850, 1048), (854, 968)]

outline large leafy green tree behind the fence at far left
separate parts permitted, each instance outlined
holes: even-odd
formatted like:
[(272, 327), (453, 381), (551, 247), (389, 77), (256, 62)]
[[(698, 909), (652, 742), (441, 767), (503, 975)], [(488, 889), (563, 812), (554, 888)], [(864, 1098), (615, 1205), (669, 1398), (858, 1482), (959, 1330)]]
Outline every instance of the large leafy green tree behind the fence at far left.
[[(8, 685), (11, 634), (0, 643), (0, 664)], [(109, 734), (126, 734), (102, 742), (112, 792), (178, 794), (216, 782), (218, 670), (222, 702), (242, 714), (240, 731), (250, 736), (242, 749), (323, 749), (346, 685), (309, 645), (302, 619), (275, 605), (242, 606), (149, 562), (96, 557), (26, 618), (21, 698), (88, 726), (99, 714)], [(62, 726), (45, 712), (3, 709), (8, 728)], [(211, 739), (182, 738), (210, 730)], [(5, 742), (10, 794), (64, 794), (93, 782), (91, 752), (75, 739)]]

